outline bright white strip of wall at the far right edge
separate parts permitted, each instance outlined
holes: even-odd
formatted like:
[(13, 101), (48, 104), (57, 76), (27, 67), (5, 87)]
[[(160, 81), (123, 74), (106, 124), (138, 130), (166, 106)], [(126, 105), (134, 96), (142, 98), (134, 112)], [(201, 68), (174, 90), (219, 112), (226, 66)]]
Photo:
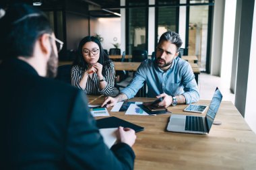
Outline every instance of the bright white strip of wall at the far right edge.
[(253, 28), (251, 34), (251, 52), (250, 52), (250, 62), (249, 62), (249, 73), (248, 73), (248, 83), (247, 83), (247, 97), (245, 106), (245, 120), (251, 127), (251, 129), (256, 133), (256, 111), (255, 111), (255, 95), (256, 95), (256, 3), (254, 4), (254, 14), (253, 14)]

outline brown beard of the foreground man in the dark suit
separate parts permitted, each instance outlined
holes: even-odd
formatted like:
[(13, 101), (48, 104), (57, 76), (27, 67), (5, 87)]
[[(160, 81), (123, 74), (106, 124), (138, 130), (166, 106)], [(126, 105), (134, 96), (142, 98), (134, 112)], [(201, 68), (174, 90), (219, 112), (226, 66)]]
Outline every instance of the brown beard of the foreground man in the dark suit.
[(54, 78), (57, 75), (58, 57), (56, 56), (53, 45), (51, 44), (51, 54), (46, 66), (46, 77)]

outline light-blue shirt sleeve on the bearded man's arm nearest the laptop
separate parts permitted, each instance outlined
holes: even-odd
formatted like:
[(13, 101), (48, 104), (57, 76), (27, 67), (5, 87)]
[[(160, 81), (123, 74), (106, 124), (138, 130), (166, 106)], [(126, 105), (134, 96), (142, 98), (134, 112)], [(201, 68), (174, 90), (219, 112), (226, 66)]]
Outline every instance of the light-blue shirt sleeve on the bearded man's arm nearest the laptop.
[(186, 103), (190, 104), (199, 101), (199, 91), (197, 87), (197, 82), (195, 81), (195, 75), (191, 68), (191, 65), (187, 62), (181, 69), (183, 75), (183, 87)]

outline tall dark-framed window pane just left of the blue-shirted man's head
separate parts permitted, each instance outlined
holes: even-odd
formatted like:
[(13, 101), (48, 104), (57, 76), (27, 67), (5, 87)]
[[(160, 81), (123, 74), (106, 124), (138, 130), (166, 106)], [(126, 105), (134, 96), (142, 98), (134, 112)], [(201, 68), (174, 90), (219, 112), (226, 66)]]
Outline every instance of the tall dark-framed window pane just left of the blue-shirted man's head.
[(148, 8), (139, 7), (148, 5), (148, 1), (129, 0), (128, 5), (127, 50), (129, 54), (133, 50), (148, 50)]

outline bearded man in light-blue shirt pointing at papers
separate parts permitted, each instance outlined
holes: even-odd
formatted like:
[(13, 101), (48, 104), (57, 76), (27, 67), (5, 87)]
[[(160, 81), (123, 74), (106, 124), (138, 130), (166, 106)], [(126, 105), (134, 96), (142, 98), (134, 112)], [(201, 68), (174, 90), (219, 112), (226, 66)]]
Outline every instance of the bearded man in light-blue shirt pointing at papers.
[(162, 97), (158, 106), (167, 108), (177, 103), (198, 101), (199, 92), (191, 65), (178, 57), (181, 45), (179, 34), (162, 34), (156, 47), (156, 58), (141, 62), (131, 83), (116, 97), (106, 97), (102, 105), (111, 107), (119, 101), (134, 97), (143, 83), (148, 86), (147, 97)]

